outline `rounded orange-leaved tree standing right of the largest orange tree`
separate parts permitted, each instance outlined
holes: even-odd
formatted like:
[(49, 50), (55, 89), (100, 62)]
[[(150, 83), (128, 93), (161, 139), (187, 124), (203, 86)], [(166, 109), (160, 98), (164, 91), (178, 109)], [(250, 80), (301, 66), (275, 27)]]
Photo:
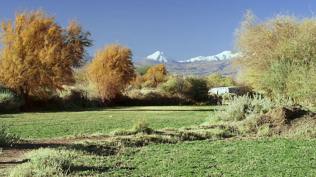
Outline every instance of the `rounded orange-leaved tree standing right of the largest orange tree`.
[(106, 45), (97, 51), (92, 63), (87, 68), (90, 81), (95, 85), (101, 101), (111, 106), (124, 86), (135, 79), (135, 67), (132, 51), (122, 44)]

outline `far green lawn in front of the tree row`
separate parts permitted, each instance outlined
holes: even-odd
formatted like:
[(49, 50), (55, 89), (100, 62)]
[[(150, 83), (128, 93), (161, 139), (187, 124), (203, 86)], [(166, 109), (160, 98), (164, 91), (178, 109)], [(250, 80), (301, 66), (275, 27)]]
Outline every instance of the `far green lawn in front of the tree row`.
[(68, 112), (0, 115), (1, 124), (25, 140), (53, 139), (91, 134), (107, 135), (127, 130), (146, 120), (154, 130), (197, 126), (205, 122), (217, 106), (115, 107)]

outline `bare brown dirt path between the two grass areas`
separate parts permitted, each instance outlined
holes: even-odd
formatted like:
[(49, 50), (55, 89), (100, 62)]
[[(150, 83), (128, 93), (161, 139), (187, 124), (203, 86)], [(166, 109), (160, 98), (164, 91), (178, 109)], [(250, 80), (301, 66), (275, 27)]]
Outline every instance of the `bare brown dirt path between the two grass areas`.
[(79, 137), (73, 139), (51, 139), (51, 140), (37, 140), (37, 141), (23, 141), (18, 145), (10, 148), (2, 148), (2, 156), (0, 156), (0, 169), (13, 167), (17, 164), (26, 162), (26, 154), (32, 150), (47, 147), (56, 147), (69, 145), (79, 141), (98, 141), (107, 139), (109, 136), (95, 136), (95, 137)]

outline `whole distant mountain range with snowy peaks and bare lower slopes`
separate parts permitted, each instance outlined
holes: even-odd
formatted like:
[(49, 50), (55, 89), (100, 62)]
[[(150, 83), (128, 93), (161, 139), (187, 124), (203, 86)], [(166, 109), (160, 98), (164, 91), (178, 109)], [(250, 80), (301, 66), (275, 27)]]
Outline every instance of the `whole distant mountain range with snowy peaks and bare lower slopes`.
[(166, 66), (166, 70), (171, 73), (176, 72), (199, 76), (209, 76), (214, 73), (219, 73), (222, 76), (235, 77), (238, 68), (232, 67), (232, 60), (238, 55), (236, 52), (224, 51), (213, 56), (199, 56), (192, 59), (176, 61), (164, 55), (164, 53), (157, 51), (141, 61), (134, 62), (134, 65), (144, 66), (163, 63)]

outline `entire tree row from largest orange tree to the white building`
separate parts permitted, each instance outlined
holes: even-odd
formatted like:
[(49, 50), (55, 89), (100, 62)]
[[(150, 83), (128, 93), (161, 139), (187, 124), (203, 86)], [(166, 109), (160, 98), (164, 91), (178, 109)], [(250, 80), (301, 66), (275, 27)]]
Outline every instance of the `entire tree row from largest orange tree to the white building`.
[(111, 106), (132, 90), (144, 88), (177, 98), (180, 104), (196, 103), (207, 100), (210, 83), (234, 84), (232, 78), (218, 74), (171, 75), (163, 64), (136, 69), (131, 49), (122, 44), (106, 45), (92, 63), (85, 64), (85, 48), (93, 42), (90, 33), (76, 19), (64, 29), (41, 9), (17, 12), (14, 21), (1, 23), (1, 29), (0, 88), (22, 95), (24, 109), (53, 96), (80, 98), (83, 107), (89, 99)]

